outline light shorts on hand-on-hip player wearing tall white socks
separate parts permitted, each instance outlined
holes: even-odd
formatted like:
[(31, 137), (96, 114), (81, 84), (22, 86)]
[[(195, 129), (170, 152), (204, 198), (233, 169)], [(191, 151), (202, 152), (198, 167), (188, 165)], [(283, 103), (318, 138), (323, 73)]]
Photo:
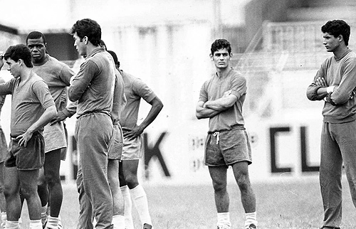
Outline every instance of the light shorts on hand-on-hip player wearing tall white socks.
[(142, 135), (135, 139), (124, 137), (124, 146), (122, 147), (121, 160), (140, 159), (143, 156)]

